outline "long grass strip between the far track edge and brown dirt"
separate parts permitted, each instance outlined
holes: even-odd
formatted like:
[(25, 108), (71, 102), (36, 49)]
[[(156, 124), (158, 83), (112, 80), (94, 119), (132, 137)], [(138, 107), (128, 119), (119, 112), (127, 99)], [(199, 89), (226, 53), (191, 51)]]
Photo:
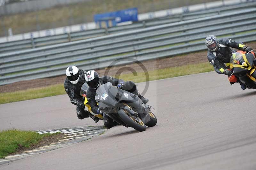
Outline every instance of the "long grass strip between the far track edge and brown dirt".
[[(196, 73), (204, 73), (204, 72), (210, 72), (210, 71), (213, 71), (213, 67), (209, 64), (209, 62), (206, 62), (206, 63), (152, 70), (152, 71), (149, 71), (148, 74), (149, 74), (149, 80), (152, 81), (152, 80), (159, 80), (159, 79), (196, 74)], [(138, 73), (138, 76), (133, 76), (133, 74), (130, 73), (130, 74), (121, 74), (119, 79), (124, 79), (125, 81), (132, 80), (138, 83), (138, 82), (146, 81), (146, 76), (144, 72)], [(56, 95), (62, 95), (62, 94), (65, 94), (63, 84), (57, 84), (54, 86), (28, 89), (28, 90), (20, 90), (15, 92), (0, 93), (0, 104), (41, 98), (41, 97), (50, 97), (50, 96), (56, 96)]]

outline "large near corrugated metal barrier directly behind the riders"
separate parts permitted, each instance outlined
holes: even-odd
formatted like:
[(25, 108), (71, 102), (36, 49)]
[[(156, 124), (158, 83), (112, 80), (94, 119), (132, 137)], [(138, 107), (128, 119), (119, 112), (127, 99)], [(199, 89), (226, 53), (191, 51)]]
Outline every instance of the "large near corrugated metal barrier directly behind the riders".
[[(236, 41), (256, 40), (256, 9), (149, 27), (87, 40), (0, 55), (0, 85), (64, 75), (72, 63), (79, 68), (105, 68), (125, 57), (139, 61), (205, 50), (209, 34)], [(231, 34), (231, 35), (230, 35)], [(115, 57), (111, 57), (115, 56)]]

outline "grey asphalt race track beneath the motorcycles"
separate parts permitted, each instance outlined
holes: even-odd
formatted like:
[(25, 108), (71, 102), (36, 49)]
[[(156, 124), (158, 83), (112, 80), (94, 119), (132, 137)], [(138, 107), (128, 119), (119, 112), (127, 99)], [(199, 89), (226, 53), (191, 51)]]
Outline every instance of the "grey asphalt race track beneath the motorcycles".
[[(211, 72), (151, 81), (145, 96), (157, 126), (144, 132), (117, 126), (0, 169), (255, 169), (255, 90), (231, 86), (226, 76)], [(0, 110), (0, 130), (95, 125), (76, 118), (67, 95), (2, 104)]]

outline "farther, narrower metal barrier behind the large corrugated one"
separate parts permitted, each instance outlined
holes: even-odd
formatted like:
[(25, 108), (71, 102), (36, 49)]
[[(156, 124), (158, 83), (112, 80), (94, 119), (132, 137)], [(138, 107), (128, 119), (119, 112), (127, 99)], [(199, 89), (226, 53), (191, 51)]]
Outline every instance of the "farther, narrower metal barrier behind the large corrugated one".
[(170, 17), (158, 18), (145, 20), (141, 22), (137, 22), (130, 25), (118, 26), (118, 27), (110, 27), (110, 28), (101, 28), (101, 29), (93, 29), (79, 32), (72, 32), (60, 35), (52, 35), (46, 37), (39, 38), (31, 38), (20, 41), (12, 41), (8, 43), (0, 43), (0, 53), (7, 53), (17, 50), (31, 49), (36, 47), (42, 47), (47, 45), (53, 45), (58, 43), (66, 43), (70, 41), (77, 41), (97, 36), (109, 35), (129, 30), (135, 30), (139, 28), (153, 27), (162, 24), (168, 24), (173, 22), (178, 22), (182, 20), (196, 19), (200, 17), (213, 16), (218, 14), (224, 14), (227, 12), (235, 12), (238, 9), (253, 9), (256, 7), (256, 3), (245, 3), (240, 5), (233, 5), (228, 7), (222, 7), (218, 9), (212, 10), (204, 10), (201, 12), (190, 12), (188, 14), (182, 15), (174, 15)]

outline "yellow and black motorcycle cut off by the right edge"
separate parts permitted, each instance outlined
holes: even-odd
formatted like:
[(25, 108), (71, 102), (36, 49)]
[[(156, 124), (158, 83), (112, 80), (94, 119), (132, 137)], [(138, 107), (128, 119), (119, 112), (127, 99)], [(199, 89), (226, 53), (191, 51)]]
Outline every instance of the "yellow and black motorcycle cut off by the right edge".
[[(229, 79), (239, 79), (248, 89), (256, 89), (256, 60), (255, 53), (237, 51), (230, 58), (230, 69), (233, 73)], [(232, 81), (231, 81), (232, 82)], [(236, 82), (236, 80), (233, 80)]]

